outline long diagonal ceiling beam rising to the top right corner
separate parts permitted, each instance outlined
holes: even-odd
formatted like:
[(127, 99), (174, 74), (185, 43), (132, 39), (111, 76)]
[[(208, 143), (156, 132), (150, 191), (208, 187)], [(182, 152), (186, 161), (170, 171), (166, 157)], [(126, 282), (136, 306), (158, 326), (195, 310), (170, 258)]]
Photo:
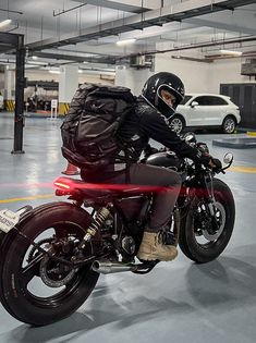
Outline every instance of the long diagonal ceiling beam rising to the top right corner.
[(154, 25), (162, 25), (173, 21), (183, 21), (188, 17), (219, 12), (231, 7), (235, 8), (254, 2), (255, 0), (215, 0), (215, 2), (212, 2), (212, 0), (190, 0), (89, 27), (82, 32), (77, 32), (75, 35), (64, 35), (60, 37), (60, 39), (52, 38), (36, 41), (27, 45), (27, 47), (31, 51), (57, 48), (99, 37), (119, 35), (133, 29), (143, 29)]

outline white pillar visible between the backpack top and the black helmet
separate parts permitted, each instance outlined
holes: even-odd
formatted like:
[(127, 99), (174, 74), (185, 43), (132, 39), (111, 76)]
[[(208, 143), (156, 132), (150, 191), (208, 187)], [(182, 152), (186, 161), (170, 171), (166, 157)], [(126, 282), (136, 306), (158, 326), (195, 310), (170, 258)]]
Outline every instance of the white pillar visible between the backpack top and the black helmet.
[(148, 68), (136, 69), (129, 65), (117, 65), (114, 85), (127, 87), (133, 95), (138, 96), (145, 82), (153, 74)]

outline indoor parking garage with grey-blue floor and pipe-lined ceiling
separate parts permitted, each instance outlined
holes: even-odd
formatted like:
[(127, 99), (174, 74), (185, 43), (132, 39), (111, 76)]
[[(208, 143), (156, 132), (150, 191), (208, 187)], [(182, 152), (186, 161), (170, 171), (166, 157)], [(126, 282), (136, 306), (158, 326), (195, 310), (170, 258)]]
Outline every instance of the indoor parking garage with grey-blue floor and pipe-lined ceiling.
[[(173, 128), (182, 123), (179, 134), (194, 132), (223, 166), (232, 152), (232, 166), (216, 177), (228, 184), (235, 203), (233, 233), (218, 258), (196, 264), (178, 247), (176, 259), (149, 273), (101, 273), (82, 306), (48, 326), (19, 320), (7, 301), (15, 299), (15, 282), (9, 297), (1, 280), (1, 342), (255, 342), (255, 12), (254, 1), (239, 0), (0, 5), (0, 21), (11, 20), (0, 22), (0, 211), (72, 203), (56, 196), (52, 183), (63, 173), (81, 180), (80, 169), (61, 154), (60, 132), (80, 85), (124, 86), (139, 96), (145, 81), (159, 72), (176, 74), (191, 96), (176, 108)], [(228, 101), (237, 118), (227, 112)], [(234, 118), (229, 133), (227, 118)], [(8, 243), (1, 234), (3, 261)], [(24, 259), (38, 255), (35, 247)], [(1, 278), (7, 268), (0, 268)], [(29, 292), (50, 297), (56, 289), (38, 281), (40, 275)]]

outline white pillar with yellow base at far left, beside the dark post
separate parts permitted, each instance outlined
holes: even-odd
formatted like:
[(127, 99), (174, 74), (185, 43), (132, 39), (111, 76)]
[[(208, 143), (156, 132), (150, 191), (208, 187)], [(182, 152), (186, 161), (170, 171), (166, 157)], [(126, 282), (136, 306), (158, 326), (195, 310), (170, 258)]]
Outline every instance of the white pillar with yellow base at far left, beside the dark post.
[(9, 112), (14, 112), (15, 103), (15, 71), (9, 70), (9, 65), (4, 68), (4, 108)]

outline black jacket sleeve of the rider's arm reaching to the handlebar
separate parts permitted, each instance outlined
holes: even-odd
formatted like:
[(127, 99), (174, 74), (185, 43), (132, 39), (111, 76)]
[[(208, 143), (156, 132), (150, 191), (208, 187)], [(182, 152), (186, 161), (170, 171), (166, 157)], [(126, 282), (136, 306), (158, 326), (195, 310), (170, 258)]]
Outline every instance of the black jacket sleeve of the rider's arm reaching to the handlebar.
[(155, 109), (147, 107), (147, 110), (145, 110), (144, 108), (139, 124), (139, 128), (144, 134), (174, 151), (178, 156), (187, 157), (203, 164), (209, 163), (210, 158), (186, 144), (184, 139), (181, 139), (180, 136), (168, 126), (164, 117)]

